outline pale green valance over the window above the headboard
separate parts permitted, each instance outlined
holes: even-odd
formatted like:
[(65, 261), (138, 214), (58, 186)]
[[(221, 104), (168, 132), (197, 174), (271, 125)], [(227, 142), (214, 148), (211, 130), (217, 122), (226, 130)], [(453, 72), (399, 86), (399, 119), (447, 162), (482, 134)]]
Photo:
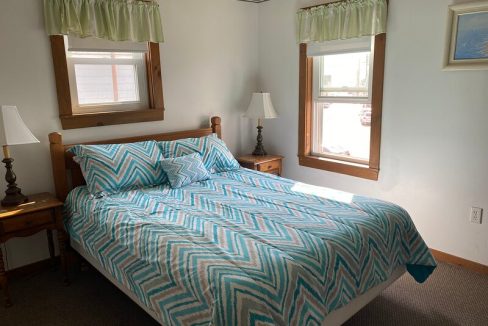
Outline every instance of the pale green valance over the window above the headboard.
[(49, 35), (164, 41), (159, 4), (137, 0), (44, 0)]

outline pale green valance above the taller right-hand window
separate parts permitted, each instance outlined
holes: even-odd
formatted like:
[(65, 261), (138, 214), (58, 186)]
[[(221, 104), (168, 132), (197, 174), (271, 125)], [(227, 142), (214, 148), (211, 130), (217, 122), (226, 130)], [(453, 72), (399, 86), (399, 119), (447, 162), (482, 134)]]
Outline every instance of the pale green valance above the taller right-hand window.
[(387, 0), (345, 0), (297, 12), (299, 43), (345, 40), (386, 32)]

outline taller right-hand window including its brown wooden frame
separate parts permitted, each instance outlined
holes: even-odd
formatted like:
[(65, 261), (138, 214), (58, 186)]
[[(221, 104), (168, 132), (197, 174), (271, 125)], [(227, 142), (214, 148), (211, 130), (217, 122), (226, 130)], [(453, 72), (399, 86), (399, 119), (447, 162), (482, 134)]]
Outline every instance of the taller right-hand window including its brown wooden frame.
[(301, 44), (300, 165), (377, 180), (385, 37)]

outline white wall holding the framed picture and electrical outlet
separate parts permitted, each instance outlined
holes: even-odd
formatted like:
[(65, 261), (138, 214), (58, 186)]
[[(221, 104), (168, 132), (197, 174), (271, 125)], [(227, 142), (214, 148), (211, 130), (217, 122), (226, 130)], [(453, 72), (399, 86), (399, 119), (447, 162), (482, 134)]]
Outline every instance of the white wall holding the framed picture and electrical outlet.
[(441, 70), (452, 1), (390, 0), (378, 182), (298, 165), (294, 14), (323, 2), (260, 6), (260, 86), (280, 114), (265, 124), (268, 151), (286, 156), (286, 177), (398, 203), (430, 247), (488, 265), (488, 71)]

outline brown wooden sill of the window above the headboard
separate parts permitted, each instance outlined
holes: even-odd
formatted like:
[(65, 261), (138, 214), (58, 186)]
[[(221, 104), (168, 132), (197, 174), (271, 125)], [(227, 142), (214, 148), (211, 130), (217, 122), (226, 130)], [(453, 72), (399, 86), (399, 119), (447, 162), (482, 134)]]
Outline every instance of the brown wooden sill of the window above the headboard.
[(61, 115), (60, 119), (63, 129), (77, 129), (134, 122), (158, 121), (164, 119), (164, 108), (137, 111)]

